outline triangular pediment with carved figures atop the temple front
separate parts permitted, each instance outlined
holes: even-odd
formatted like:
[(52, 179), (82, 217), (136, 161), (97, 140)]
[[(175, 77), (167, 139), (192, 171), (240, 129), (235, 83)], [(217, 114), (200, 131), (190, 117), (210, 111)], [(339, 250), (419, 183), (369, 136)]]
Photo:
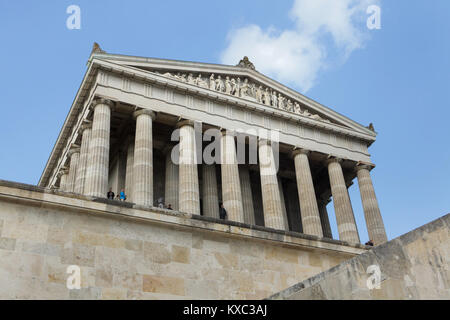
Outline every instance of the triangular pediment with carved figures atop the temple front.
[(220, 92), (324, 124), (334, 124), (375, 136), (375, 132), (254, 70), (245, 59), (236, 66), (94, 52), (92, 58), (108, 61), (164, 78)]

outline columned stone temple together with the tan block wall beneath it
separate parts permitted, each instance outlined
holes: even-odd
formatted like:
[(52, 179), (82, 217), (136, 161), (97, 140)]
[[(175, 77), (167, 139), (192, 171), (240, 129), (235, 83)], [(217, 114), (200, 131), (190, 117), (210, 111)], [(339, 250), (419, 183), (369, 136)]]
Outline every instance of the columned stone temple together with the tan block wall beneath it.
[[(374, 252), (360, 243), (353, 180), (369, 238), (387, 240), (375, 138), (246, 57), (228, 66), (95, 44), (38, 185), (0, 180), (0, 299), (264, 299), (345, 269)], [(345, 284), (364, 286), (364, 272)]]

